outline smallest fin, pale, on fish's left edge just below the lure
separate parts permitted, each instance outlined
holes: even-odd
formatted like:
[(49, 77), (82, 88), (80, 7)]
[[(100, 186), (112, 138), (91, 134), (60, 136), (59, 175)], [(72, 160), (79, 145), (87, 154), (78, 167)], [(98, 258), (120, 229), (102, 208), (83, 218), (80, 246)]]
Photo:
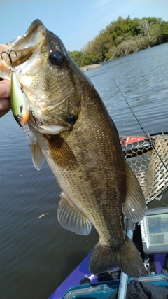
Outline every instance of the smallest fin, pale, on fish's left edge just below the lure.
[(36, 144), (30, 144), (30, 149), (34, 167), (37, 170), (40, 170), (43, 165), (43, 162), (45, 161), (41, 148), (40, 146), (38, 146), (38, 143), (36, 142)]

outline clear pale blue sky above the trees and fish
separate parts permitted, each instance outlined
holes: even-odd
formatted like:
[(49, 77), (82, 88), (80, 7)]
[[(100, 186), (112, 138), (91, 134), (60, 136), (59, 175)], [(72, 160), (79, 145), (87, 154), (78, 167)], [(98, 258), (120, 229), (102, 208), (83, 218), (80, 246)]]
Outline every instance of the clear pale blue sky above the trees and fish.
[(0, 0), (0, 43), (25, 34), (40, 19), (67, 50), (81, 50), (110, 22), (128, 15), (168, 21), (168, 0)]

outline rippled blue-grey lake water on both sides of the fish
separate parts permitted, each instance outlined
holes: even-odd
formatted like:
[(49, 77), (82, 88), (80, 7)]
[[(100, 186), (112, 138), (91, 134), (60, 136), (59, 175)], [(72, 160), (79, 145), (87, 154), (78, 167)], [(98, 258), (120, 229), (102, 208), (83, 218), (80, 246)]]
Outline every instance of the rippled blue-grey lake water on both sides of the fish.
[[(144, 133), (116, 83), (148, 134), (168, 132), (168, 43), (86, 74), (120, 135)], [(46, 162), (34, 169), (12, 113), (0, 119), (0, 145), (0, 299), (46, 299), (97, 243), (97, 232), (83, 237), (59, 225), (61, 190)]]

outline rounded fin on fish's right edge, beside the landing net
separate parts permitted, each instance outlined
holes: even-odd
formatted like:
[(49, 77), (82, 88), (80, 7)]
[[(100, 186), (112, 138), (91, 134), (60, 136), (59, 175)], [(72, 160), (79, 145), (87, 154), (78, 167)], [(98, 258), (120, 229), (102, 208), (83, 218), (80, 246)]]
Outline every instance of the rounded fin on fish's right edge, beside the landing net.
[(136, 176), (126, 165), (127, 197), (123, 204), (123, 214), (132, 222), (137, 223), (145, 216), (146, 201)]

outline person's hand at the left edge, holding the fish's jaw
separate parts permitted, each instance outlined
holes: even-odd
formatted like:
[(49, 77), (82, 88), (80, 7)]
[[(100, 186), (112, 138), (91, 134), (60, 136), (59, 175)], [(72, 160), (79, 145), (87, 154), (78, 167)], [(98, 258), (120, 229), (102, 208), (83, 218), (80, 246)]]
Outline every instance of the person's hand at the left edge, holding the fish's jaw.
[[(8, 46), (0, 45), (0, 53), (7, 50)], [(10, 110), (10, 81), (0, 81), (0, 117), (4, 116)]]

